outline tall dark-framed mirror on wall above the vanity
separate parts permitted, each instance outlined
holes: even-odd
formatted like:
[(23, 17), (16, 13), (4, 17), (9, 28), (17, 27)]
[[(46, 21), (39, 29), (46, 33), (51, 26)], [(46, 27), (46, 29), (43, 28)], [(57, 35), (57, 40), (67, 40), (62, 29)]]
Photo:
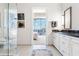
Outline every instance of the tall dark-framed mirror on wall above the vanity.
[(67, 8), (64, 11), (64, 29), (72, 28), (72, 7)]

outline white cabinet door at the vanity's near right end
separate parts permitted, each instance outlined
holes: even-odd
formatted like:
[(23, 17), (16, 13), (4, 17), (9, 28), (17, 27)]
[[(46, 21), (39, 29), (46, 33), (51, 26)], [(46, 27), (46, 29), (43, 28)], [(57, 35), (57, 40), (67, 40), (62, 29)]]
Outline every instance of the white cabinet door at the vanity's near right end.
[(79, 41), (77, 41), (76, 39), (72, 40), (71, 42), (71, 55), (79, 56)]

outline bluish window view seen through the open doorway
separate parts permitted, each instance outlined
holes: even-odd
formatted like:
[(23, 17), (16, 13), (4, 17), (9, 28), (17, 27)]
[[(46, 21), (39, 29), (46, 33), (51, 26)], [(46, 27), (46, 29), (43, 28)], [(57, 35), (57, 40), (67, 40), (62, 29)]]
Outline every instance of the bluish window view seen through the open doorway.
[(46, 34), (46, 18), (35, 18), (33, 21), (34, 32), (37, 32), (38, 35)]

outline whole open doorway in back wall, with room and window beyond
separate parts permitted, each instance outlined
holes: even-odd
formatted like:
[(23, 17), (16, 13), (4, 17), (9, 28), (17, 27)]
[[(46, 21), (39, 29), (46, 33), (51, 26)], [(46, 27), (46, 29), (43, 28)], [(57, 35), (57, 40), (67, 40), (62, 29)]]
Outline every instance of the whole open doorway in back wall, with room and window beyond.
[(45, 10), (34, 10), (32, 25), (32, 44), (46, 45), (46, 24), (47, 19)]

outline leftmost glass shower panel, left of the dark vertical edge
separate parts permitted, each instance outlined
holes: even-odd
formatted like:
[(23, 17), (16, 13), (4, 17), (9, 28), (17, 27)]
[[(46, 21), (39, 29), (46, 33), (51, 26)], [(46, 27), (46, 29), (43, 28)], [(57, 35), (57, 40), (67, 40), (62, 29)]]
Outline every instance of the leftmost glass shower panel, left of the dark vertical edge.
[(0, 56), (9, 55), (8, 46), (8, 4), (0, 4)]

